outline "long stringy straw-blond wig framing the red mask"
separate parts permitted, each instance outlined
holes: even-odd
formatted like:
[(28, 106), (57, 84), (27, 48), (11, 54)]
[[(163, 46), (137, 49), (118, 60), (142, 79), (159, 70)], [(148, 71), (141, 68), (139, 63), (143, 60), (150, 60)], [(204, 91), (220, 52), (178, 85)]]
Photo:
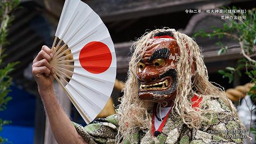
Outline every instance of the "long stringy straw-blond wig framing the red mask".
[[(142, 59), (142, 55), (150, 45), (147, 43), (148, 40), (153, 38), (154, 34), (166, 31), (170, 31), (173, 34), (180, 49), (180, 58), (177, 64), (177, 97), (172, 107), (172, 110), (177, 112), (175, 114), (178, 114), (178, 116), (182, 118), (183, 123), (190, 128), (194, 127), (198, 129), (202, 121), (211, 122), (213, 111), (204, 108), (195, 110), (191, 107), (191, 101), (189, 100), (190, 95), (199, 94), (199, 97), (203, 97), (202, 104), (210, 98), (221, 98), (231, 110), (231, 113), (227, 115), (233, 115), (238, 124), (243, 125), (238, 118), (236, 108), (233, 103), (227, 99), (225, 92), (209, 82), (203, 55), (196, 42), (189, 36), (179, 33), (174, 29), (163, 28), (145, 33), (131, 47), (133, 54), (129, 62), (128, 78), (124, 88), (124, 96), (121, 98), (121, 105), (119, 105), (117, 112), (120, 118), (116, 138), (117, 143), (122, 142), (124, 139), (134, 143), (137, 140), (134, 138), (133, 134), (138, 130), (146, 131), (146, 135), (148, 134), (151, 139), (155, 140), (155, 138), (151, 136), (151, 116), (149, 112), (153, 107), (153, 102), (139, 100), (136, 70), (139, 61)], [(193, 61), (196, 64), (195, 73), (191, 73)], [(206, 113), (211, 114), (210, 119), (205, 117), (204, 114)]]

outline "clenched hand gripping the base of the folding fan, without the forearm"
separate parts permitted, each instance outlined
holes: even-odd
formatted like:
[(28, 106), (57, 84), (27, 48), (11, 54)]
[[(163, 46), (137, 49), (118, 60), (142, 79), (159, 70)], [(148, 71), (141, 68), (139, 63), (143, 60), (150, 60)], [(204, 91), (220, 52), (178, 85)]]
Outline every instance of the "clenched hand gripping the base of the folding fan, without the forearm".
[(51, 49), (44, 45), (33, 61), (33, 75), (36, 79), (39, 93), (52, 89), (52, 74), (54, 73), (54, 69), (50, 65), (52, 57)]

